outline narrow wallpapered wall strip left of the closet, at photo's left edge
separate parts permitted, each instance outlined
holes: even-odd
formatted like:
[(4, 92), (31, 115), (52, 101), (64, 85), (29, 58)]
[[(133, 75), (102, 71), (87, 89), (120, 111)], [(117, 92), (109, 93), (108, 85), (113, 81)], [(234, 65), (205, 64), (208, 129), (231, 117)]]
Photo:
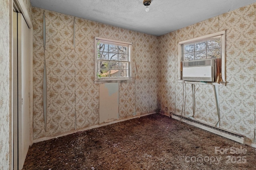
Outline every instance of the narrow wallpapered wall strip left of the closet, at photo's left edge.
[(10, 155), (10, 18), (9, 0), (0, 1), (0, 169), (9, 169)]

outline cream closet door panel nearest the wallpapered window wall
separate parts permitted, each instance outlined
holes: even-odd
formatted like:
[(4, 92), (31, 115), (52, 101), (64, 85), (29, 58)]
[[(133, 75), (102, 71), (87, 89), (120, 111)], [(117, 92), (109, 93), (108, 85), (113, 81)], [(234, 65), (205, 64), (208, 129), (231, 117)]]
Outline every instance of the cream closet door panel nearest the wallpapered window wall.
[[(18, 13), (18, 157), (19, 169), (25, 162), (30, 145), (29, 116), (29, 28)], [(21, 105), (20, 105), (21, 104)]]

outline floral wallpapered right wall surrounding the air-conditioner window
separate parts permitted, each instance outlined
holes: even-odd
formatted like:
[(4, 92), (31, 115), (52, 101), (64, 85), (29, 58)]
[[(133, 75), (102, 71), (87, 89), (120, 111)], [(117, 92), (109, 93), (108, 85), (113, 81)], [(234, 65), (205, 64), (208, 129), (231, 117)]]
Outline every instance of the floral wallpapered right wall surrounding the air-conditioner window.
[[(190, 25), (160, 37), (162, 110), (193, 115), (192, 85), (178, 82), (178, 42), (226, 30), (226, 86), (219, 86), (220, 127), (254, 140), (255, 5)], [(211, 85), (195, 84), (196, 120), (218, 121)], [(184, 101), (184, 102), (183, 102)], [(183, 110), (182, 110), (183, 106)]]

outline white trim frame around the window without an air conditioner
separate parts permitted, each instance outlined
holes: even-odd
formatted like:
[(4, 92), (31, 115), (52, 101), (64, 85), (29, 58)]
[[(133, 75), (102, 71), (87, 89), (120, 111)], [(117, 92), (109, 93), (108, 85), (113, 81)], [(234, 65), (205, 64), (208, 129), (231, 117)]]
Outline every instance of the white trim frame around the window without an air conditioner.
[[(129, 46), (128, 54), (129, 54), (129, 77), (128, 78), (109, 78), (109, 79), (98, 79), (97, 76), (97, 71), (98, 71), (98, 51), (97, 51), (97, 41), (104, 41), (104, 42), (110, 42), (112, 44), (124, 44)], [(126, 41), (119, 41), (119, 40), (114, 40), (114, 39), (108, 39), (108, 38), (102, 38), (102, 37), (95, 37), (94, 40), (94, 56), (95, 56), (95, 61), (94, 61), (94, 83), (113, 83), (113, 82), (132, 82), (132, 43), (126, 42)]]

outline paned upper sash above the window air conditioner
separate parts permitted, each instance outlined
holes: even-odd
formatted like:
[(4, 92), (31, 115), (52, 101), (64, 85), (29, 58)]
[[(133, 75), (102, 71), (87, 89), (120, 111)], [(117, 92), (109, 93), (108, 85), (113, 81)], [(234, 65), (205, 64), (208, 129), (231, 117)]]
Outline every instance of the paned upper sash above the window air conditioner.
[(221, 58), (221, 37), (182, 45), (182, 61)]

